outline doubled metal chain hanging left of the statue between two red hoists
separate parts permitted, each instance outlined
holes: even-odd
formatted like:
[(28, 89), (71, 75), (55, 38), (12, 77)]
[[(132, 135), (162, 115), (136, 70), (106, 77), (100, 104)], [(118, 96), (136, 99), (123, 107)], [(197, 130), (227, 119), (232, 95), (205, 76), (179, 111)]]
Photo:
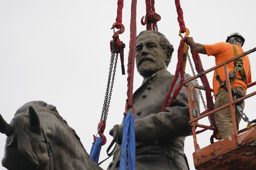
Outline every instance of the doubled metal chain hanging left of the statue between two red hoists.
[(113, 38), (112, 51), (111, 51), (111, 57), (110, 57), (110, 65), (109, 65), (110, 68), (109, 68), (109, 72), (108, 72), (108, 83), (107, 83), (105, 99), (104, 99), (104, 103), (103, 103), (103, 108), (102, 108), (102, 112), (101, 112), (101, 120), (100, 121), (103, 121), (103, 117), (105, 119), (106, 110), (107, 110), (106, 107), (107, 107), (107, 103), (108, 103), (109, 85), (110, 85), (110, 80), (111, 80), (111, 76), (112, 76), (112, 69), (113, 69), (115, 53), (116, 53), (116, 47), (115, 47), (114, 42), (115, 42), (115, 39)]

